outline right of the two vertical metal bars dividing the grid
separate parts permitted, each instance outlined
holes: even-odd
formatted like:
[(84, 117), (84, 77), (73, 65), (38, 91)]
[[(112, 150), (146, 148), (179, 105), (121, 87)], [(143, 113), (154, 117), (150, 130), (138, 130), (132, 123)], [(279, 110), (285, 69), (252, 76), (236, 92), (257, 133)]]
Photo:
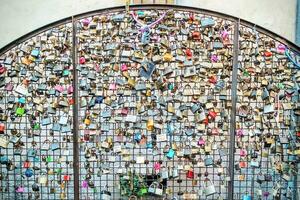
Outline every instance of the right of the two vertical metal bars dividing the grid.
[(234, 153), (236, 128), (236, 102), (237, 102), (237, 71), (239, 54), (239, 21), (235, 21), (233, 41), (233, 67), (231, 84), (231, 116), (230, 116), (230, 147), (229, 147), (229, 175), (228, 199), (233, 200), (234, 192)]

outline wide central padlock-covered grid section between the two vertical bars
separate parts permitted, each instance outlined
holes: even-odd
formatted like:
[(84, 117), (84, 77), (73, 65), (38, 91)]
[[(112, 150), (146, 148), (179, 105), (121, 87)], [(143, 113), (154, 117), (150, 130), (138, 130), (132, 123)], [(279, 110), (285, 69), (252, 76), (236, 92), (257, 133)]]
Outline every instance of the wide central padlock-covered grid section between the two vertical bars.
[[(158, 13), (151, 19), (152, 21), (155, 18), (158, 18), (163, 12), (163, 10), (159, 12), (154, 10), (149, 11), (152, 13)], [(220, 34), (223, 28), (226, 27), (230, 35), (230, 40), (233, 40), (232, 35), (234, 24), (230, 21), (213, 17), (213, 19), (217, 21), (217, 23), (221, 24), (222, 27), (219, 28), (219, 30), (214, 30), (213, 28), (204, 29), (200, 28), (200, 24), (198, 24), (200, 19), (212, 18), (212, 16), (183, 11), (176, 11), (174, 13), (181, 16), (177, 16), (177, 18), (175, 17), (175, 20), (171, 17), (173, 22), (166, 18), (166, 20), (164, 20), (161, 24), (168, 24), (171, 22), (174, 24), (169, 24), (169, 27), (179, 26), (188, 30), (191, 29), (193, 31), (199, 31), (199, 33), (208, 31), (211, 32), (211, 34)], [(113, 22), (113, 19), (115, 19), (116, 16), (120, 16), (122, 14), (124, 14), (123, 21), (127, 19), (127, 23)], [(194, 23), (189, 22), (189, 17), (192, 15), (195, 17)], [(103, 22), (104, 18), (105, 22)], [(102, 19), (102, 21), (99, 19)], [(227, 116), (230, 115), (231, 110), (230, 77), (232, 71), (232, 43), (223, 48), (224, 52), (216, 49), (211, 49), (211, 51), (208, 52), (205, 48), (209, 47), (210, 43), (213, 42), (208, 37), (199, 40), (198, 42), (197, 40), (192, 40), (192, 42), (188, 44), (193, 50), (193, 54), (195, 54), (192, 60), (193, 62), (196, 62), (197, 59), (199, 60), (198, 64), (195, 64), (197, 65), (197, 74), (193, 76), (193, 79), (183, 78), (182, 75), (186, 73), (186, 71), (184, 68), (178, 67), (179, 62), (175, 60), (175, 57), (178, 56), (178, 54), (176, 55), (176, 48), (171, 50), (174, 58), (170, 62), (158, 62), (156, 64), (156, 74), (165, 73), (164, 70), (168, 69), (168, 67), (171, 67), (172, 70), (176, 71), (175, 73), (182, 74), (181, 76), (176, 76), (175, 74), (164, 76), (168, 83), (175, 84), (175, 87), (178, 87), (178, 91), (185, 93), (185, 90), (189, 87), (187, 84), (190, 84), (191, 88), (194, 88), (194, 84), (197, 84), (199, 95), (194, 96), (197, 97), (197, 99), (193, 99), (193, 95), (183, 94), (182, 96), (182, 93), (173, 93), (171, 90), (168, 91), (168, 89), (165, 89), (165, 93), (163, 90), (157, 89), (154, 85), (154, 77), (157, 75), (153, 75), (153, 80), (150, 81), (139, 78), (138, 73), (141, 69), (141, 60), (136, 59), (134, 56), (132, 56), (131, 59), (126, 56), (122, 56), (123, 51), (129, 49), (131, 50), (131, 53), (139, 50), (143, 51), (142, 44), (135, 27), (135, 22), (132, 21), (131, 16), (128, 16), (123, 12), (118, 12), (106, 13), (105, 15), (95, 15), (79, 20), (80, 22), (77, 23), (77, 62), (80, 63), (82, 61), (82, 64), (78, 66), (78, 84), (80, 88), (79, 96), (81, 98), (79, 102), (79, 122), (81, 123), (81, 130), (79, 131), (81, 138), (80, 178), (81, 184), (84, 186), (81, 190), (81, 198), (100, 198), (101, 192), (99, 190), (96, 191), (93, 187), (97, 189), (101, 188), (100, 190), (110, 191), (113, 199), (121, 198), (119, 196), (120, 177), (124, 177), (131, 172), (148, 178), (152, 176), (152, 179), (158, 175), (158, 177), (162, 179), (162, 176), (165, 176), (163, 173), (168, 171), (167, 173), (171, 174), (172, 170), (174, 168), (176, 170), (178, 166), (178, 178), (161, 180), (164, 184), (164, 190), (168, 193), (165, 195), (166, 197), (176, 197), (178, 196), (178, 192), (182, 193), (180, 195), (184, 195), (184, 193), (192, 191), (198, 193), (198, 190), (204, 189), (201, 187), (205, 187), (202, 183), (208, 184), (208, 179), (210, 179), (216, 187), (217, 194), (208, 197), (201, 195), (201, 199), (215, 199), (218, 196), (227, 198), (227, 181), (225, 180), (229, 176), (227, 157), (229, 147), (229, 118)], [(153, 30), (160, 29), (159, 27), (160, 26), (158, 25)], [(121, 34), (123, 31), (125, 34)], [(111, 37), (111, 35), (114, 36)], [(180, 39), (180, 36), (183, 36), (183, 38)], [(187, 38), (188, 36), (175, 32), (171, 37), (167, 38), (167, 40), (169, 40), (173, 45), (176, 44), (178, 46), (183, 46), (184, 41), (186, 40), (184, 37)], [(108, 48), (107, 46), (112, 45), (113, 42), (119, 42), (120, 46)], [(159, 42), (153, 39), (149, 46), (158, 44)], [(197, 47), (202, 48), (203, 51), (200, 50), (197, 52)], [(160, 48), (162, 48), (162, 46), (160, 46)], [(163, 57), (164, 53), (164, 51), (161, 51), (160, 54), (155, 55)], [(210, 68), (209, 66), (212, 65), (210, 56), (213, 54), (218, 55), (218, 64), (222, 61), (226, 61), (228, 62), (228, 65), (221, 69), (218, 69), (218, 67)], [(146, 57), (146, 54), (143, 56)], [(151, 60), (151, 57), (148, 58)], [(204, 62), (206, 63), (206, 66)], [(120, 70), (122, 64), (129, 66), (128, 74), (130, 77), (135, 79), (137, 85), (145, 83), (149, 84), (149, 87), (145, 89), (145, 91), (140, 91), (138, 89), (130, 88), (127, 84), (122, 85), (120, 82), (128, 81), (128, 79), (124, 78)], [(187, 64), (187, 66), (189, 66), (189, 64)], [(202, 70), (202, 72), (200, 72), (200, 68), (204, 69), (204, 71)], [(95, 80), (93, 80), (92, 74), (96, 75)], [(220, 97), (220, 91), (216, 90), (215, 85), (209, 83), (208, 76), (214, 74), (218, 77), (218, 80), (225, 81), (225, 94), (223, 93), (222, 97)], [(114, 84), (116, 82), (119, 84), (116, 84), (116, 89), (114, 89)], [(151, 96), (147, 96), (147, 90), (151, 90)], [(90, 93), (92, 93), (92, 95)], [(163, 106), (163, 102), (159, 99), (159, 97), (164, 96), (165, 99), (168, 99), (173, 98), (172, 96), (174, 94), (174, 98), (176, 98), (176, 96), (177, 98), (182, 98), (181, 102), (179, 99), (176, 102), (168, 100), (166, 105)], [(95, 104), (93, 101), (100, 97), (104, 97), (105, 99), (102, 103)], [(109, 98), (111, 99), (111, 102)], [(83, 103), (85, 101), (86, 103)], [(148, 104), (157, 105), (154, 107), (149, 105), (148, 109), (150, 109), (150, 111), (148, 111), (148, 113), (138, 113), (137, 105), (142, 104), (146, 107), (147, 101), (149, 102)], [(199, 124), (200, 126), (194, 126), (193, 124), (196, 123), (193, 119), (195, 114), (190, 110), (190, 106), (193, 105), (192, 102), (198, 102), (198, 104), (202, 102), (202, 107), (204, 112), (206, 112), (205, 115), (207, 116), (208, 111), (213, 111), (213, 107), (216, 107), (215, 109), (217, 113), (219, 113), (218, 117), (216, 120), (209, 120), (207, 126), (201, 127), (200, 124), (203, 124), (201, 122)], [(82, 105), (82, 103), (84, 105)], [(209, 106), (209, 103), (213, 103), (212, 107), (209, 107), (210, 109), (205, 108), (205, 104)], [(182, 111), (187, 111), (186, 117), (180, 119), (178, 117), (178, 115), (181, 115), (180, 113), (177, 113), (176, 116), (175, 113), (167, 112), (166, 110), (168, 109), (168, 106), (175, 107), (176, 109), (187, 106), (187, 109), (182, 109)], [(147, 110), (147, 108), (145, 108), (145, 110)], [(220, 116), (220, 113), (222, 116)], [(161, 121), (158, 115), (161, 115)], [(89, 119), (87, 119), (88, 116)], [(136, 123), (126, 123), (126, 120), (129, 120), (130, 118), (128, 116), (137, 116)], [(147, 118), (154, 119), (155, 128), (153, 131), (149, 131), (149, 129), (147, 130)], [(189, 119), (191, 121), (189, 121)], [(89, 128), (86, 122), (91, 123), (93, 128)], [(97, 128), (95, 128), (95, 126)], [(172, 126), (176, 127), (176, 131), (170, 134), (170, 132), (168, 132), (168, 128)], [(98, 131), (98, 129), (100, 129), (100, 131)], [(222, 133), (213, 133), (216, 135), (208, 136), (208, 129), (218, 130)], [(188, 131), (191, 132), (191, 136), (186, 136), (185, 132)], [(147, 138), (147, 140), (137, 140), (137, 132), (141, 132), (143, 135), (142, 137)], [(166, 138), (165, 140), (160, 141), (158, 138), (163, 136), (163, 134), (166, 134)], [(206, 141), (206, 144), (203, 146), (199, 146), (197, 144), (200, 137)], [(112, 143), (108, 144), (108, 140), (112, 140)], [(151, 143), (154, 144), (153, 147), (149, 147)], [(174, 149), (174, 158), (166, 158), (166, 152), (168, 151), (163, 152), (163, 149), (174, 146), (177, 146), (177, 149)], [(120, 151), (119, 148), (121, 148), (122, 151)], [(207, 150), (206, 152), (204, 150), (205, 148)], [(212, 150), (209, 150), (209, 148), (212, 148)], [(95, 152), (97, 158), (95, 159), (95, 157), (87, 155), (90, 153), (87, 152), (89, 151), (87, 149), (93, 149), (92, 151)], [(194, 151), (193, 156), (191, 154), (192, 150)], [(224, 151), (221, 154), (222, 158), (220, 157), (219, 151)], [(180, 155), (181, 153), (184, 154), (184, 152), (186, 152), (186, 156)], [(87, 156), (87, 158), (85, 156)], [(205, 159), (209, 159), (210, 157), (213, 158), (214, 164), (205, 166)], [(88, 160), (90, 159), (93, 161), (89, 162)], [(147, 160), (147, 164), (145, 164), (143, 160)], [(138, 163), (134, 163), (133, 161)], [(161, 169), (158, 169), (157, 171), (153, 170), (153, 166), (156, 161), (161, 162)], [(184, 164), (180, 164), (182, 162)], [(186, 177), (189, 165), (194, 172), (194, 178), (190, 179)], [(92, 171), (88, 173), (87, 171), (91, 169)], [(87, 174), (90, 174), (88, 178), (86, 177)], [(150, 179), (147, 182), (150, 184), (152, 181), (153, 180)], [(155, 181), (159, 181), (159, 179), (155, 179)], [(86, 182), (90, 182), (92, 187), (88, 187)], [(151, 195), (148, 197), (150, 198)], [(152, 198), (154, 197), (155, 195), (152, 195)], [(122, 198), (124, 198), (124, 196)], [(156, 196), (156, 198), (159, 197)]]

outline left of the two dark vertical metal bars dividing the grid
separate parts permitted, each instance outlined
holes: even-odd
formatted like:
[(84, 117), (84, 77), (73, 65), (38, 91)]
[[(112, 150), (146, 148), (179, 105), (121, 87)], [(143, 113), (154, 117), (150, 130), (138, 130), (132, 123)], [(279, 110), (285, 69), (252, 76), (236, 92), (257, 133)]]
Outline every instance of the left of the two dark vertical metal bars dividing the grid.
[(74, 170), (74, 199), (79, 200), (79, 149), (78, 149), (78, 74), (77, 74), (77, 40), (76, 21), (72, 17), (72, 63), (73, 63), (73, 170)]

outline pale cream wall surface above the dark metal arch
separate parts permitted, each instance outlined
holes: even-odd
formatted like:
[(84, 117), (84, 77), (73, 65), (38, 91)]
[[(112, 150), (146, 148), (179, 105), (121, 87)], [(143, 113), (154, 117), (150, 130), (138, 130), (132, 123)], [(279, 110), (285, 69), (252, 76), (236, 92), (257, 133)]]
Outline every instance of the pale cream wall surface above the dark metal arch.
[[(0, 48), (41, 26), (125, 0), (0, 0)], [(177, 0), (177, 4), (238, 16), (295, 41), (296, 0)]]

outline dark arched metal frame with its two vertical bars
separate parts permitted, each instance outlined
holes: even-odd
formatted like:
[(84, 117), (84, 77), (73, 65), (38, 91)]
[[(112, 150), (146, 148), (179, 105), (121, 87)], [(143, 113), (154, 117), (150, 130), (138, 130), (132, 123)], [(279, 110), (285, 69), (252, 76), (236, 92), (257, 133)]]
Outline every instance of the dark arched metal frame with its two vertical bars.
[[(105, 14), (107, 13), (111, 13), (111, 12), (118, 12), (118, 11), (124, 11), (124, 6), (120, 6), (120, 7), (113, 7), (113, 8), (105, 8), (105, 9), (100, 9), (100, 10), (96, 10), (96, 11), (91, 11), (91, 12), (87, 12), (84, 14), (79, 14), (79, 15), (75, 15), (72, 17), (67, 17), (65, 19), (56, 21), (54, 23), (48, 24), (44, 27), (41, 27), (37, 30), (34, 30), (22, 37), (20, 37), (19, 39), (11, 42), (10, 44), (6, 45), (5, 47), (3, 47), (0, 50), (0, 55), (4, 54), (6, 51), (10, 50), (11, 48), (13, 48), (14, 46), (17, 46), (18, 44), (21, 44), (22, 42), (26, 41), (27, 39), (34, 37), (36, 35), (38, 35), (39, 33), (42, 33), (52, 27), (56, 27), (58, 25), (62, 25), (65, 23), (72, 23), (73, 24), (73, 34), (72, 34), (72, 41), (73, 41), (73, 45), (72, 45), (72, 63), (73, 66), (77, 65), (77, 50), (76, 50), (76, 42), (77, 42), (77, 38), (76, 38), (76, 22), (79, 19), (85, 18), (85, 17), (89, 17), (95, 14)], [(186, 7), (186, 6), (176, 6), (176, 5), (133, 5), (130, 6), (130, 10), (139, 10), (139, 9), (175, 9), (175, 10), (179, 10), (179, 11), (190, 11), (190, 12), (200, 12), (200, 13), (204, 13), (204, 14), (208, 14), (211, 16), (216, 16), (216, 17), (221, 17), (221, 18), (226, 18), (229, 20), (232, 20), (235, 23), (235, 33), (234, 33), (234, 45), (233, 45), (233, 71), (232, 71), (232, 110), (231, 110), (231, 116), (230, 116), (230, 163), (229, 163), (229, 169), (230, 169), (230, 177), (231, 180), (233, 180), (233, 176), (234, 176), (234, 148), (235, 148), (235, 131), (236, 131), (236, 104), (237, 104), (237, 70), (238, 70), (238, 55), (239, 55), (239, 25), (243, 25), (245, 27), (256, 27), (256, 30), (259, 33), (263, 33), (271, 38), (274, 38), (275, 40), (287, 45), (289, 47), (289, 49), (293, 52), (295, 52), (296, 54), (300, 54), (300, 47), (295, 45), (294, 43), (290, 42), (289, 40), (279, 36), (276, 33), (273, 33), (263, 27), (260, 27), (258, 25), (255, 25), (251, 22), (248, 22), (246, 20), (243, 19), (239, 19), (237, 17), (234, 16), (230, 16), (230, 15), (225, 15), (222, 13), (218, 13), (218, 12), (214, 12), (214, 11), (209, 11), (209, 10), (205, 10), (205, 9), (199, 9), (199, 8), (193, 8), (193, 7)], [(74, 93), (73, 93), (73, 98), (75, 100), (78, 100), (78, 74), (76, 70), (73, 70), (73, 84), (74, 84)], [(76, 101), (77, 102), (77, 101)], [(79, 149), (78, 149), (78, 103), (75, 103), (75, 105), (73, 106), (73, 161), (74, 161), (74, 199), (80, 199), (80, 180), (79, 180)], [(233, 194), (234, 194), (234, 182), (230, 181), (229, 187), (228, 187), (228, 199), (234, 199)], [(299, 195), (299, 194), (298, 194)]]

